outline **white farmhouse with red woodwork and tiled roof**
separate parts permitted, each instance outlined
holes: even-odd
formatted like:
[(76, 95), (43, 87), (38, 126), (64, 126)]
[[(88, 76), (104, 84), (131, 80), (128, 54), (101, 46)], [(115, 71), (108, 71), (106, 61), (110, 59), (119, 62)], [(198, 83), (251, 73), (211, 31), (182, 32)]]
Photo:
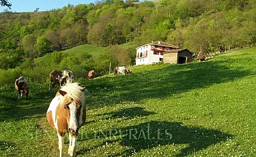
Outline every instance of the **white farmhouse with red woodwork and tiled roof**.
[(164, 43), (163, 41), (152, 41), (136, 48), (136, 65), (152, 64), (163, 61), (163, 52), (178, 49), (178, 46)]

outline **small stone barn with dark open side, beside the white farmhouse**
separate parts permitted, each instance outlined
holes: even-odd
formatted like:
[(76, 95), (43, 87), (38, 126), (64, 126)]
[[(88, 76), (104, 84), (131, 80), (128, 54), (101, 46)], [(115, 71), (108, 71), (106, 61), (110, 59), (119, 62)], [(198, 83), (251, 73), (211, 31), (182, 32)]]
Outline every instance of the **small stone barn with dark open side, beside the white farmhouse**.
[(192, 52), (186, 48), (163, 52), (163, 63), (181, 64), (190, 61), (192, 61)]

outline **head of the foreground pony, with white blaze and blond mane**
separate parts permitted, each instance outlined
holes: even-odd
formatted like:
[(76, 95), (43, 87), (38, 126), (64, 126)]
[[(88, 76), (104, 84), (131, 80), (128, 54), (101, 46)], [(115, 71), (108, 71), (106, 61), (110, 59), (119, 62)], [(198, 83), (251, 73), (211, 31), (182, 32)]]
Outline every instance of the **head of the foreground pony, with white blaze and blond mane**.
[(60, 105), (67, 111), (66, 119), (68, 120), (68, 131), (72, 135), (77, 135), (79, 126), (81, 126), (80, 113), (84, 109), (84, 95), (85, 87), (81, 88), (77, 83), (67, 82), (62, 86), (58, 93), (63, 97), (60, 99)]

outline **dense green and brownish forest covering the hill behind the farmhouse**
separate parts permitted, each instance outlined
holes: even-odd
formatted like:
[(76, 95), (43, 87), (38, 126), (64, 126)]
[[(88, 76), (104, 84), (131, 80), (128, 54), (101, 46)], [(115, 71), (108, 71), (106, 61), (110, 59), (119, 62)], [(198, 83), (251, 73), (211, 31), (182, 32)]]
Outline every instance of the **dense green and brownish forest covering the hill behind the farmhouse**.
[[(1, 69), (85, 43), (135, 48), (165, 41), (195, 54), (256, 43), (256, 0), (104, 0), (44, 12), (6, 10), (0, 17)], [(130, 58), (123, 64), (133, 63), (133, 51), (122, 52)]]

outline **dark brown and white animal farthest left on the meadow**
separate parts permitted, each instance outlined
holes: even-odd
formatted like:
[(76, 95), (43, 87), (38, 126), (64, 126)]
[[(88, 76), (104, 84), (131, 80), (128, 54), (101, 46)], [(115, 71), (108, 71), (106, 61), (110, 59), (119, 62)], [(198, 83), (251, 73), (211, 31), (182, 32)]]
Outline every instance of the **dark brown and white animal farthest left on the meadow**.
[(28, 89), (30, 89), (30, 86), (28, 86), (28, 80), (26, 80), (25, 77), (15, 78), (15, 89), (16, 94), (18, 95), (18, 99), (20, 99), (23, 94), (26, 94), (25, 98), (28, 99)]

